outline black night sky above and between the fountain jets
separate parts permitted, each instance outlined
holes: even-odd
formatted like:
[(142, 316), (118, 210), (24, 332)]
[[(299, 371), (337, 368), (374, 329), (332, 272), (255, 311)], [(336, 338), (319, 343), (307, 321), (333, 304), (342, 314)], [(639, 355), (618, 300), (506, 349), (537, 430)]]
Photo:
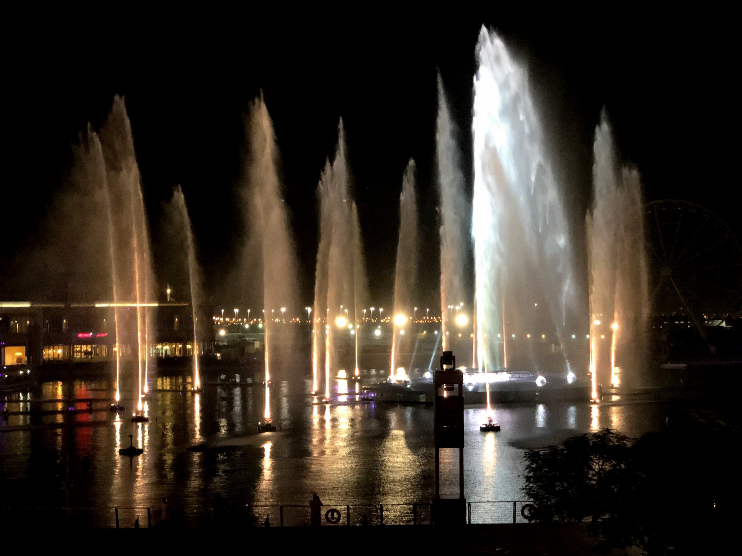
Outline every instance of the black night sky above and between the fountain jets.
[(470, 160), (467, 119), (482, 22), (499, 30), (531, 69), (553, 161), (568, 184), (574, 225), (581, 225), (589, 202), (592, 134), (605, 105), (623, 157), (643, 175), (648, 200), (697, 202), (740, 236), (730, 193), (738, 177), (732, 182), (729, 176), (736, 145), (727, 139), (728, 129), (738, 128), (732, 97), (736, 45), (732, 50), (729, 30), (718, 23), (709, 27), (702, 16), (665, 16), (648, 21), (644, 13), (544, 14), (534, 22), (529, 13), (493, 9), (466, 21), (375, 21), (360, 27), (269, 24), (245, 14), (188, 24), (34, 27), (7, 52), (3, 274), (11, 274), (10, 261), (36, 241), (34, 230), (64, 187), (77, 133), (88, 121), (97, 127), (112, 96), (121, 94), (151, 227), (157, 231), (162, 202), (174, 185), (182, 185), (214, 302), (234, 302), (232, 292), (219, 286), (241, 242), (243, 115), (262, 89), (283, 158), (301, 254), (302, 302), (310, 300), (314, 271), (315, 188), (342, 116), (372, 298), (390, 301), (398, 194), (413, 157), (421, 234), (427, 238), (421, 249), (429, 261), (422, 268), (419, 305), (434, 306), (436, 67)]

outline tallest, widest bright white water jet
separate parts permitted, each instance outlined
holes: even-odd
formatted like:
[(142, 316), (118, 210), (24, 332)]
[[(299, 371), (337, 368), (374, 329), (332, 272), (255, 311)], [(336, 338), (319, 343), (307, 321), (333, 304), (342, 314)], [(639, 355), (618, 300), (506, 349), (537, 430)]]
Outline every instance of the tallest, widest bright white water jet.
[[(477, 360), (505, 366), (503, 323), (533, 325), (534, 303), (548, 307), (548, 332), (564, 354), (574, 303), (573, 263), (562, 191), (546, 157), (528, 73), (496, 33), (482, 27), (474, 79), (474, 198)], [(536, 271), (537, 269), (537, 271)], [(502, 299), (508, 299), (503, 308)], [(529, 309), (530, 308), (530, 309)], [(507, 313), (504, 313), (504, 310)], [(531, 317), (528, 317), (531, 315)], [(508, 364), (513, 359), (508, 354)], [(531, 364), (531, 362), (529, 362)], [(563, 362), (568, 372), (568, 363)]]

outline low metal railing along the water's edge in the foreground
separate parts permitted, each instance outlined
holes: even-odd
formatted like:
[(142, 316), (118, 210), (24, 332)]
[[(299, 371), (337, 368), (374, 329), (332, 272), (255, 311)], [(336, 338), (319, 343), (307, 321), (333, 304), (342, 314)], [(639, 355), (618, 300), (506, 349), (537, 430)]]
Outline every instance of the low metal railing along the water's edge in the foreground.
[[(466, 523), (530, 523), (527, 500), (493, 500), (467, 502)], [(146, 506), (108, 508), (0, 508), (0, 523), (9, 528), (43, 524), (52, 529), (131, 529), (162, 526), (158, 509)], [(528, 517), (526, 517), (528, 516)], [(334, 504), (321, 508), (321, 526), (432, 525), (433, 503)], [(531, 518), (532, 519), (532, 518)], [(205, 508), (196, 516), (186, 517), (171, 509), (168, 525), (188, 526), (311, 526), (306, 504), (224, 503), (219, 508)]]

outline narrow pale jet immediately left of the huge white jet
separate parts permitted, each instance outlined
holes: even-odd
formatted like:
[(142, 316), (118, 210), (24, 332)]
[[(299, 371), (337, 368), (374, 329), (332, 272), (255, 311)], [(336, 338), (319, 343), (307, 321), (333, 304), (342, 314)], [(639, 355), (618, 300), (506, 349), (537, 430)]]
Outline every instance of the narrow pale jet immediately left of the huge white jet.
[[(464, 174), (462, 173), (459, 145), (456, 143), (456, 128), (451, 119), (441, 75), (438, 75), (438, 122), (437, 122), (438, 182), (441, 196), (441, 334), (443, 351), (449, 349), (448, 305), (464, 299), (465, 288), (462, 273), (466, 268), (467, 222), (464, 214), (467, 202), (464, 199)], [(473, 318), (476, 330), (476, 317)], [(476, 340), (474, 341), (476, 345)], [(472, 355), (472, 367), (476, 357)]]

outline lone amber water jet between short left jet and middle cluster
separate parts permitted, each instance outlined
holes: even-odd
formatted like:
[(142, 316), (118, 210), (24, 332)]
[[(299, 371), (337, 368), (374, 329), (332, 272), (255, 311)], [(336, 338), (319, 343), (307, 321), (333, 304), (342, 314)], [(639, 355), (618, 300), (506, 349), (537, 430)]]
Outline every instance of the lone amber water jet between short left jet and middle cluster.
[[(246, 188), (248, 203), (249, 245), (257, 252), (246, 265), (257, 273), (263, 291), (263, 344), (265, 349), (265, 408), (263, 417), (271, 420), (270, 383), (272, 365), (280, 360), (285, 363), (291, 352), (290, 332), (283, 328), (282, 342), (277, 342), (281, 329), (275, 322), (275, 308), (295, 309), (296, 270), (295, 248), (289, 232), (286, 204), (278, 179), (278, 147), (273, 124), (261, 95), (252, 103), (249, 119), (250, 162)], [(253, 264), (256, 263), (256, 264)], [(283, 312), (283, 311), (282, 311)]]

